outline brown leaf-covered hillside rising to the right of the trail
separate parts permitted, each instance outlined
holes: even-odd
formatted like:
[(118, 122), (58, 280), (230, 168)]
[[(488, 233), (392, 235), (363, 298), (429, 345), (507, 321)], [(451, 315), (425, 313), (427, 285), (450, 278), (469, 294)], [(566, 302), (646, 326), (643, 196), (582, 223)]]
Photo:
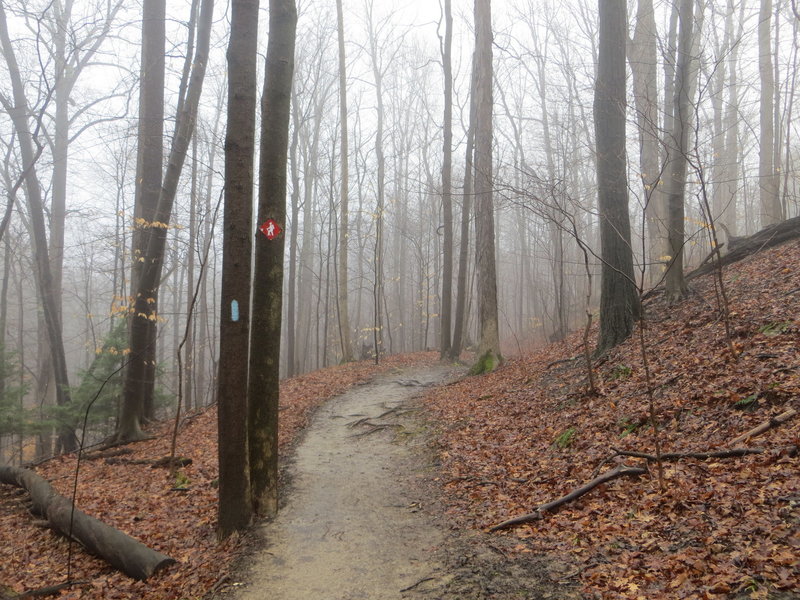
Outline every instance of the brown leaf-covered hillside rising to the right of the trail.
[[(800, 409), (800, 243), (728, 267), (731, 359), (711, 277), (675, 308), (647, 306), (647, 356), (662, 451), (726, 448), (790, 407)], [(644, 369), (633, 339), (596, 365), (586, 394), (579, 336), (496, 373), (433, 392), (442, 486), (453, 518), (488, 528), (529, 513), (622, 461), (654, 453)], [(724, 598), (800, 589), (800, 418), (750, 440), (761, 455), (664, 464), (620, 479), (555, 514), (495, 535), (521, 552), (569, 556), (590, 597)], [(741, 443), (738, 445), (742, 445)], [(626, 459), (629, 465), (642, 465)], [(781, 592), (782, 590), (782, 592)]]

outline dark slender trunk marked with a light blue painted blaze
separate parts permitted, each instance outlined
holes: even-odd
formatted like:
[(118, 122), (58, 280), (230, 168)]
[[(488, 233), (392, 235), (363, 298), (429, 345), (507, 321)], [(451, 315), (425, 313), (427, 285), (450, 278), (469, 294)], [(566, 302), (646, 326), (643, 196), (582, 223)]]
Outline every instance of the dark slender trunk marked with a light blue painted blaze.
[(221, 538), (247, 527), (252, 516), (247, 466), (247, 372), (259, 0), (233, 0), (231, 9), (217, 377), (220, 438), (217, 533)]

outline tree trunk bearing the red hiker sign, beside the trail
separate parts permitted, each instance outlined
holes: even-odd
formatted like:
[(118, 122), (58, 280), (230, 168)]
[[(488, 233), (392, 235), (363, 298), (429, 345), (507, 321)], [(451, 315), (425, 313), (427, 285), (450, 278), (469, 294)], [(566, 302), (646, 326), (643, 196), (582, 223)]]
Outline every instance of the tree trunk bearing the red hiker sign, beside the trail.
[[(270, 0), (264, 94), (258, 222), (286, 226), (289, 104), (294, 72), (297, 9), (294, 0)], [(284, 235), (256, 234), (248, 389), (248, 443), (253, 511), (278, 510), (278, 398)]]

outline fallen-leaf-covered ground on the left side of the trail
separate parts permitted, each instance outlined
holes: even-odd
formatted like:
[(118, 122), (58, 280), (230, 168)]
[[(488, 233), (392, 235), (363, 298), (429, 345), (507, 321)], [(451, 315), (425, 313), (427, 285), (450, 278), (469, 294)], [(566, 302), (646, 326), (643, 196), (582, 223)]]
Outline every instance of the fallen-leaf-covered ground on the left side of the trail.
[[(366, 381), (379, 371), (420, 361), (433, 353), (389, 357), (380, 367), (353, 363), (284, 381), (281, 388), (279, 443), (285, 451), (313, 410), (324, 400)], [(169, 454), (172, 426), (163, 424), (156, 438), (128, 446), (130, 453), (81, 463), (76, 505), (178, 561), (146, 582), (129, 579), (100, 559), (73, 546), (69, 577), (86, 583), (62, 591), (61, 598), (148, 600), (200, 598), (227, 573), (240, 540), (217, 544), (217, 415), (215, 409), (190, 416), (181, 428), (177, 454), (192, 459), (178, 478), (168, 470), (135, 461)], [(41, 465), (38, 473), (59, 492), (71, 495), (75, 457)], [(184, 488), (184, 489), (176, 489)], [(17, 592), (67, 580), (67, 542), (34, 525), (25, 498), (0, 485), (0, 592)], [(2, 593), (0, 593), (2, 597)]]

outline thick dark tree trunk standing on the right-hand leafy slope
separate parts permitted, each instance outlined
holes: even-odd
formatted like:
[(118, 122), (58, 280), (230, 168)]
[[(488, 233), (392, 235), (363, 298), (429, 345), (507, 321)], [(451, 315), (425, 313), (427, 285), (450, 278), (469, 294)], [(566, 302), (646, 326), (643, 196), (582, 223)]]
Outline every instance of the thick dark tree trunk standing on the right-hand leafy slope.
[(599, 63), (594, 96), (600, 246), (600, 339), (597, 351), (633, 331), (639, 302), (633, 275), (625, 156), (625, 0), (599, 0)]

